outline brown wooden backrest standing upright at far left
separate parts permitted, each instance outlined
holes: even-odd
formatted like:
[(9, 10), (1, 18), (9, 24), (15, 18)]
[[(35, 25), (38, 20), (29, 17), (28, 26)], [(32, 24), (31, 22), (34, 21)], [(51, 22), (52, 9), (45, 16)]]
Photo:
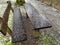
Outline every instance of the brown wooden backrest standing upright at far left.
[[(0, 32), (3, 35), (6, 35), (7, 31), (9, 31), (9, 34), (11, 35), (11, 30), (9, 29), (7, 22), (8, 22), (8, 18), (9, 18), (9, 13), (10, 13), (10, 9), (11, 9), (11, 3), (10, 1), (7, 1), (8, 5), (7, 8), (4, 12), (4, 15), (1, 19), (1, 23), (0, 23)], [(8, 29), (8, 30), (7, 30)]]

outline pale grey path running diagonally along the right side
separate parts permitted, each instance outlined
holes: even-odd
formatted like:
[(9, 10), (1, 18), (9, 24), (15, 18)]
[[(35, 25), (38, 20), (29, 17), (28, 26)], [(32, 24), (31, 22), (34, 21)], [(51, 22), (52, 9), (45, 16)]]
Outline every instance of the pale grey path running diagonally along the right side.
[[(52, 24), (52, 28), (48, 28), (48, 29), (43, 29), (40, 30), (40, 35), (44, 35), (44, 36), (48, 36), (47, 34), (49, 34), (52, 37), (56, 38), (56, 42), (51, 43), (50, 45), (60, 45), (60, 11), (47, 6), (39, 1), (36, 0), (26, 0), (26, 2), (31, 3), (37, 10), (38, 12), (40, 12), (41, 14), (43, 14), (44, 16), (46, 16), (46, 18), (50, 21), (50, 23)], [(49, 36), (48, 36), (49, 37)], [(41, 41), (40, 41), (41, 42)], [(40, 45), (39, 42), (39, 45)], [(52, 41), (51, 41), (52, 42)], [(43, 44), (41, 44), (43, 45)]]

